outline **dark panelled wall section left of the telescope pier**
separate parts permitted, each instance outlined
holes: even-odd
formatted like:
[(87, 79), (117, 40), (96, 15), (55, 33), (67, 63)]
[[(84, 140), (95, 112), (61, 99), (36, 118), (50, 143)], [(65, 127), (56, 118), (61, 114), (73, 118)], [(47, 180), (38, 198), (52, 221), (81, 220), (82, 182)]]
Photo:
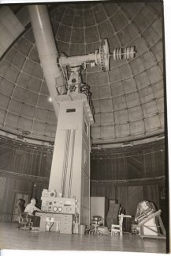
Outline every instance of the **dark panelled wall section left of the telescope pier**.
[[(12, 221), (17, 197), (48, 189), (53, 149), (0, 136), (0, 221)], [(15, 219), (16, 220), (16, 219)]]

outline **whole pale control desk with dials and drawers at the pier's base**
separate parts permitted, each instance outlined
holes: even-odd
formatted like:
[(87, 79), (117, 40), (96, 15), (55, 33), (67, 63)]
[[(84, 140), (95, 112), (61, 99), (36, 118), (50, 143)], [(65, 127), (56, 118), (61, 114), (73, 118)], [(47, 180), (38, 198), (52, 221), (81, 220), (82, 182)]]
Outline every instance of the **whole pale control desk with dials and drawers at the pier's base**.
[(56, 190), (43, 189), (41, 201), (43, 212), (36, 212), (39, 230), (72, 234), (73, 224), (78, 224), (76, 198), (58, 197)]

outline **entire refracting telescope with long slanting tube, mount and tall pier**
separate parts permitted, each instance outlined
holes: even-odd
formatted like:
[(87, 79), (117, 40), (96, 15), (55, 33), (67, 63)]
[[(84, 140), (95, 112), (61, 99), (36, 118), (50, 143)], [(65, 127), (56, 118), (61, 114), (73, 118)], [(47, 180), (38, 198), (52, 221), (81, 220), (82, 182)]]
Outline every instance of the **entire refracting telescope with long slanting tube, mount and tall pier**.
[[(132, 59), (136, 55), (136, 48), (116, 48), (110, 53), (105, 39), (94, 53), (76, 56), (58, 53), (46, 6), (30, 5), (28, 10), (46, 85), (58, 119), (49, 188), (43, 192), (43, 207), (49, 207), (50, 212), (55, 210), (58, 214), (62, 208), (59, 204), (65, 204), (67, 199), (65, 210), (71, 212), (75, 204), (69, 205), (68, 199), (76, 199), (77, 222), (88, 226), (91, 124), (95, 120), (91, 85), (83, 81), (81, 72), (88, 64), (91, 67), (97, 65), (102, 71), (109, 71), (111, 58), (114, 61)], [(55, 194), (53, 200), (49, 196), (52, 190), (53, 195)], [(61, 197), (63, 199), (60, 200)], [(70, 204), (71, 202), (72, 200)]]

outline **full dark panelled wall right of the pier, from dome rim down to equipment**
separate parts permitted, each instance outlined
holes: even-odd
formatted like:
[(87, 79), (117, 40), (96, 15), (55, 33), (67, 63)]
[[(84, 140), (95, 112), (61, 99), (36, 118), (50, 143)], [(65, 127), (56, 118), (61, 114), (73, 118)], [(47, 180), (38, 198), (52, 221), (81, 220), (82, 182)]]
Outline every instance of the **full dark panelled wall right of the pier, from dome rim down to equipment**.
[(139, 201), (151, 201), (162, 209), (166, 225), (166, 160), (164, 139), (141, 146), (94, 150), (91, 196), (116, 200), (131, 216), (135, 215)]

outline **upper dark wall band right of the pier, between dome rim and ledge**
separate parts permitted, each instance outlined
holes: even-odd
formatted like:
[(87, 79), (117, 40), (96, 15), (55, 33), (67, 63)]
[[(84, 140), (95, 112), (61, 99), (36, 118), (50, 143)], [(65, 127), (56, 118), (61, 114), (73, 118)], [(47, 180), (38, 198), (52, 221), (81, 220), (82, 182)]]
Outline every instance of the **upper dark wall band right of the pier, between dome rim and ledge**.
[(119, 181), (164, 176), (164, 139), (137, 146), (92, 150), (91, 180)]

